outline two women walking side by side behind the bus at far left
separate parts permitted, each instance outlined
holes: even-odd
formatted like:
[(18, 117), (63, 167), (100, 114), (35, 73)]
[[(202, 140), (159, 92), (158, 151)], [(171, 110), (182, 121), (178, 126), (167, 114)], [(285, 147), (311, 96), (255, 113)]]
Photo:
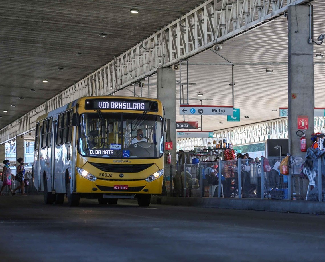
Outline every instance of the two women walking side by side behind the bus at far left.
[[(24, 159), (19, 157), (17, 159), (17, 162), (19, 163), (19, 165), (17, 166), (17, 173), (16, 173), (16, 176), (12, 175), (12, 172), (11, 172), (11, 168), (10, 168), (10, 161), (9, 160), (4, 160), (3, 161), (3, 164), (4, 164), (4, 167), (2, 169), (2, 178), (1, 178), (1, 181), (2, 181), (2, 187), (0, 189), (0, 196), (3, 196), (4, 194), (2, 193), (2, 191), (6, 188), (6, 186), (8, 186), (8, 189), (11, 193), (11, 195), (15, 195), (15, 192), (18, 190), (18, 189), (21, 189), (21, 195), (22, 196), (25, 196), (25, 181), (24, 181), (24, 176), (25, 176), (25, 168), (24, 168)], [(12, 184), (12, 181), (18, 181), (19, 182), (19, 186), (17, 186), (14, 190), (12, 190), (11, 188), (11, 184)]]

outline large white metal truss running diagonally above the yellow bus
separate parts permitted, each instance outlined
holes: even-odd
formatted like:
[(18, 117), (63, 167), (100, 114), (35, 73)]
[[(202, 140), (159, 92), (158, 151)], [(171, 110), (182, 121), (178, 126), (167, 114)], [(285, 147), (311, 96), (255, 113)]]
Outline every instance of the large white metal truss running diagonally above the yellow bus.
[(0, 130), (0, 143), (30, 131), (36, 118), (85, 95), (113, 94), (159, 67), (169, 67), (250, 31), (310, 0), (208, 0)]

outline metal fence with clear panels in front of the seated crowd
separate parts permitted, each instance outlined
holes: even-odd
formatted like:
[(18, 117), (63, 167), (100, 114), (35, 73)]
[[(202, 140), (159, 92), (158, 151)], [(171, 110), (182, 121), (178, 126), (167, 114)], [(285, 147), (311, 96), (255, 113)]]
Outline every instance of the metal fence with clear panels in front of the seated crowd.
[(280, 173), (284, 157), (179, 165), (170, 195), (325, 201), (325, 154), (317, 160), (290, 156), (288, 175)]

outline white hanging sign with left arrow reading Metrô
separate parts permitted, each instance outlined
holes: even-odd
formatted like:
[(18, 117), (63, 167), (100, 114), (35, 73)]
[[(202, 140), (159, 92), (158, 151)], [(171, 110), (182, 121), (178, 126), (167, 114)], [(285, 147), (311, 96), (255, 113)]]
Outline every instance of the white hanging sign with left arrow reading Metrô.
[(232, 106), (179, 106), (180, 115), (232, 116), (233, 110), (234, 108)]

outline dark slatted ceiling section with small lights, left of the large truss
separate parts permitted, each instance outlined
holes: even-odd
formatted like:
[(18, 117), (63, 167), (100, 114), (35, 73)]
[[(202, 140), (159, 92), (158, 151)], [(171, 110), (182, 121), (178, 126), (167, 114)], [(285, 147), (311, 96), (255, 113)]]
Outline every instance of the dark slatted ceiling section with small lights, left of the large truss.
[[(0, 128), (201, 2), (0, 0)], [(140, 13), (130, 13), (131, 6)], [(99, 37), (102, 32), (108, 36)]]

